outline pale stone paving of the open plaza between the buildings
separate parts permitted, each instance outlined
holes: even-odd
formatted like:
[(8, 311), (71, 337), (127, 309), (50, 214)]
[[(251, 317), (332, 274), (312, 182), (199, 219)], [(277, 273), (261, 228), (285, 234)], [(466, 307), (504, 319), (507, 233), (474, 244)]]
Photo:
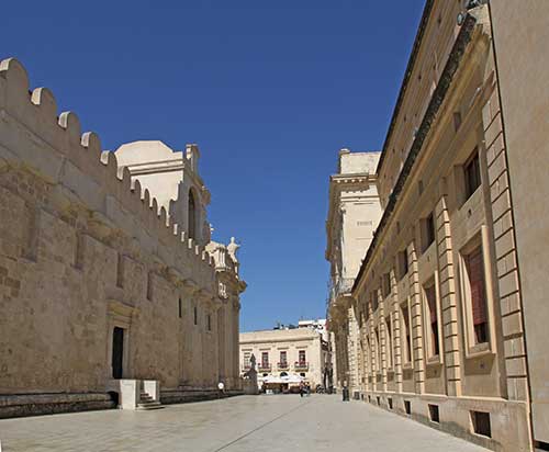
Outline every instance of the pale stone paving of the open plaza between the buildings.
[(337, 396), (243, 396), (154, 411), (90, 411), (0, 420), (2, 452), (485, 452), (365, 403)]

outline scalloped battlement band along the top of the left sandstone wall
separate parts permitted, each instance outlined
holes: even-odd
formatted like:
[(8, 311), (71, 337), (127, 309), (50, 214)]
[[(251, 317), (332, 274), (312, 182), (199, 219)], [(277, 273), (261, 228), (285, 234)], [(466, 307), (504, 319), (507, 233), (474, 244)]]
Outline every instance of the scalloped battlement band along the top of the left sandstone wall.
[[(195, 172), (198, 148), (190, 145), (186, 151), (184, 161)], [(40, 174), (63, 202), (68, 199), (88, 211), (98, 234), (121, 229), (141, 250), (161, 255), (178, 278), (199, 279), (197, 283), (216, 292), (215, 262), (204, 247), (209, 237), (190, 238), (187, 225), (169, 214), (169, 202), (159, 202), (132, 178), (131, 167), (119, 166), (96, 133), (82, 133), (74, 112), (57, 112), (52, 91), (30, 89), (26, 70), (15, 58), (0, 63), (0, 169), (7, 165)], [(193, 178), (201, 182), (198, 174)], [(209, 202), (205, 189), (200, 196)]]

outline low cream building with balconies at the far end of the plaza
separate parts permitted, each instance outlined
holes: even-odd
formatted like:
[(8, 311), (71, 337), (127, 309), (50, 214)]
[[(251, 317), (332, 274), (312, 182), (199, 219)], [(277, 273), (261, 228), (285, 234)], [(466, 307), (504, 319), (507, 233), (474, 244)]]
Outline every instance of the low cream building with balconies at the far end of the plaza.
[(304, 326), (289, 328), (279, 326), (272, 330), (240, 332), (240, 371), (250, 369), (251, 355), (256, 359), (258, 384), (266, 378), (301, 377), (304, 382), (327, 385), (330, 376), (328, 344), (322, 332)]

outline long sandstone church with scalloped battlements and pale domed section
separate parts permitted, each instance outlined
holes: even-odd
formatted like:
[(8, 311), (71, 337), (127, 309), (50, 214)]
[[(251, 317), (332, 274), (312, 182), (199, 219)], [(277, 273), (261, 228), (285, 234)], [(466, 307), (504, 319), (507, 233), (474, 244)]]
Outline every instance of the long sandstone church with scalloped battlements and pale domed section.
[(211, 241), (199, 158), (102, 151), (0, 63), (0, 416), (112, 407), (131, 381), (163, 403), (239, 391), (246, 284), (236, 242)]

